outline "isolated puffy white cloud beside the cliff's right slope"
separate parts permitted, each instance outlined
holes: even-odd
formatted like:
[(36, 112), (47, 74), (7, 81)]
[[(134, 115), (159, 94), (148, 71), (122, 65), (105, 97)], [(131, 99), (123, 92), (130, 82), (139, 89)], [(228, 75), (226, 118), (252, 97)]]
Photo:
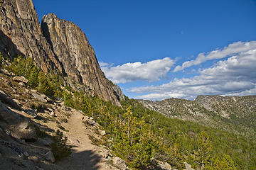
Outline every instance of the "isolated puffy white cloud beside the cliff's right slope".
[(158, 81), (165, 78), (167, 72), (174, 65), (174, 60), (166, 57), (161, 60), (153, 60), (150, 62), (134, 62), (126, 63), (121, 66), (111, 67), (107, 64), (101, 64), (101, 69), (105, 72), (108, 79), (114, 83), (127, 83), (131, 81)]

